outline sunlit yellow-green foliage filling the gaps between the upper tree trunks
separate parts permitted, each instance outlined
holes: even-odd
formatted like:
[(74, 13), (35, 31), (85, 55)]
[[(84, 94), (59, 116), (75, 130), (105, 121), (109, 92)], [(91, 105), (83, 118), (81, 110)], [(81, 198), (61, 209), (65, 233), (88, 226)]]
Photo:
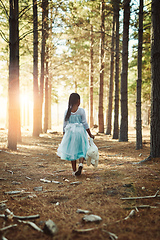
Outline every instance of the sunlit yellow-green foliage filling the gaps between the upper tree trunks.
[[(41, 0), (38, 0), (39, 20), (39, 72), (41, 50)], [(105, 81), (104, 96), (108, 93), (110, 47), (112, 29), (112, 1), (106, 1), (105, 9)], [(142, 98), (150, 99), (150, 4), (146, 1), (144, 7), (143, 35), (143, 73)], [(33, 9), (31, 0), (19, 0), (20, 29), (20, 86), (32, 92), (33, 81)], [(6, 89), (8, 84), (9, 57), (9, 3), (0, 1), (0, 68), (1, 84)], [(58, 102), (59, 91), (66, 99), (68, 92), (77, 91), (83, 94), (86, 102), (89, 100), (89, 61), (90, 61), (90, 29), (93, 25), (94, 37), (94, 101), (98, 105), (99, 92), (99, 39), (100, 39), (100, 1), (98, 0), (50, 0), (49, 1), (49, 79), (52, 82), (53, 102)], [(138, 8), (132, 1), (132, 35), (138, 38)], [(129, 63), (129, 97), (135, 100), (137, 80), (137, 45), (133, 47), (132, 61)], [(60, 89), (60, 90), (59, 90)]]

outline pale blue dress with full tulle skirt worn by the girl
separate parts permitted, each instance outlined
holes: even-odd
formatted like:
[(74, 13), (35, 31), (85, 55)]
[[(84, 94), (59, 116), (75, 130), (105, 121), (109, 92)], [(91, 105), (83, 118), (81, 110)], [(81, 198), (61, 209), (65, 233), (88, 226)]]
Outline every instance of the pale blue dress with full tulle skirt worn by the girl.
[(89, 126), (83, 108), (78, 108), (75, 113), (71, 112), (69, 120), (64, 120), (63, 123), (63, 131), (65, 134), (58, 147), (57, 155), (61, 157), (61, 159), (68, 161), (74, 161), (81, 157), (85, 158), (89, 148), (89, 141), (86, 132), (86, 129), (88, 128)]

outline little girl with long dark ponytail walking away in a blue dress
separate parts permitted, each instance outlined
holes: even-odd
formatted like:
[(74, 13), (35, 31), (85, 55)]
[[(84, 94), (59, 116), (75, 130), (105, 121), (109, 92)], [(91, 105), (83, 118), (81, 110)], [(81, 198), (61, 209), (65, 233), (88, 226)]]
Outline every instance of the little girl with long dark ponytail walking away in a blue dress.
[[(61, 159), (71, 161), (73, 175), (81, 175), (83, 161), (89, 148), (88, 135), (91, 134), (86, 114), (83, 108), (79, 108), (80, 96), (72, 93), (69, 97), (68, 110), (65, 111), (63, 122), (63, 139), (58, 147), (57, 154)], [(79, 167), (76, 171), (76, 160), (79, 159)]]

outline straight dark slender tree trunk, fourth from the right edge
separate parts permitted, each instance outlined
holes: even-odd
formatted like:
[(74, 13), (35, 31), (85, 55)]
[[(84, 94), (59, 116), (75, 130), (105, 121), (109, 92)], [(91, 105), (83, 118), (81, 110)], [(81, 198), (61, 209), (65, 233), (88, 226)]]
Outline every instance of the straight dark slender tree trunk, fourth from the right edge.
[(115, 60), (115, 99), (114, 99), (113, 139), (118, 139), (119, 137), (119, 4), (120, 4), (120, 0), (115, 1), (116, 60)]

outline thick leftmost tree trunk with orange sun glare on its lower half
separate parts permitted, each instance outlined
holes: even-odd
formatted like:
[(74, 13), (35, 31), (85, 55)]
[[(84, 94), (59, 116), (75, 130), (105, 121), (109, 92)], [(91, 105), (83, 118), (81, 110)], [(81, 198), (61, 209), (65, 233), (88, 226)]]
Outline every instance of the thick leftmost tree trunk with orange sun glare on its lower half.
[(18, 0), (10, 0), (9, 18), (9, 123), (8, 148), (17, 149), (17, 139), (20, 129), (19, 103), (19, 26)]

